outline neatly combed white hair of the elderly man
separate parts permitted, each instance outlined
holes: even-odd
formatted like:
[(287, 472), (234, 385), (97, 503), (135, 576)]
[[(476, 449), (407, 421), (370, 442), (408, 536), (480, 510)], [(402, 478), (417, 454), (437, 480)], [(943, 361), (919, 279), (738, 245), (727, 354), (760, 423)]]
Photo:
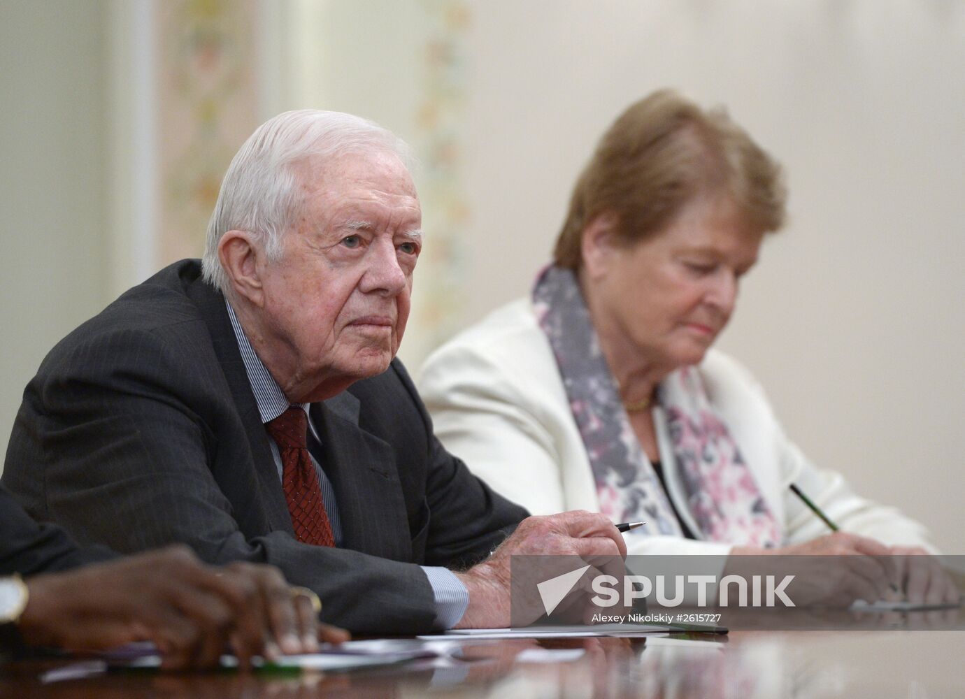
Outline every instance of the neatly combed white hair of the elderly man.
[(335, 160), (348, 152), (383, 151), (412, 165), (410, 148), (374, 121), (342, 112), (300, 109), (262, 123), (234, 154), (207, 223), (202, 258), (206, 282), (228, 295), (228, 275), (218, 258), (221, 236), (247, 230), (269, 260), (282, 255), (282, 234), (301, 203), (296, 166), (309, 158)]

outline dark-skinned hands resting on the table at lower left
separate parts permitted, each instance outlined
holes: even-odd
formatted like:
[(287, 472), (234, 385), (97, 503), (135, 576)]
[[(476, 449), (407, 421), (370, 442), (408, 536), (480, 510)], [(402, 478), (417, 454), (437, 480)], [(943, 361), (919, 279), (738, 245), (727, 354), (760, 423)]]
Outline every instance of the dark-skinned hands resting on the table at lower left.
[(231, 643), (246, 665), (254, 655), (307, 653), (317, 638), (348, 634), (319, 625), (311, 599), (291, 594), (270, 566), (212, 568), (171, 547), (67, 573), (27, 579), (24, 640), (69, 650), (101, 650), (150, 640), (167, 667), (216, 665)]

